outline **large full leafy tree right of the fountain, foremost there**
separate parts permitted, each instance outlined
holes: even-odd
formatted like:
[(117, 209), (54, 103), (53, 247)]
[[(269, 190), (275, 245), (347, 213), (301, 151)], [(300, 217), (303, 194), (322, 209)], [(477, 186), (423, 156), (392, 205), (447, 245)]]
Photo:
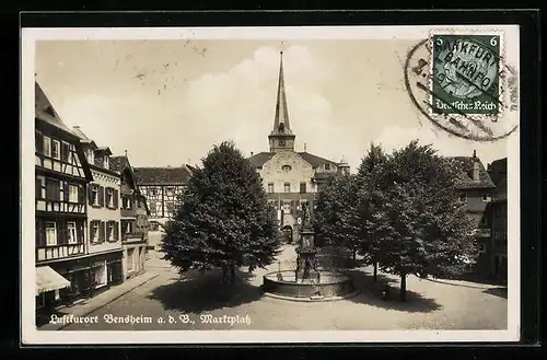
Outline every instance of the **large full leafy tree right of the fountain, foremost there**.
[(373, 172), (373, 253), (386, 272), (453, 278), (476, 254), (473, 223), (457, 201), (459, 169), (430, 146), (411, 141)]

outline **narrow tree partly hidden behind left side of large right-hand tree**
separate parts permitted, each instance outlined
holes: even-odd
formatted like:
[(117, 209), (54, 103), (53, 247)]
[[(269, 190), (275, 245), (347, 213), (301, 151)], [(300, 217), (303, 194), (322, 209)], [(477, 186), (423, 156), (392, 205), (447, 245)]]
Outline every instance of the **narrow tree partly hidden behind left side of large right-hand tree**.
[(386, 161), (386, 154), (381, 146), (370, 144), (366, 155), (359, 165), (354, 185), (354, 208), (351, 211), (351, 223), (357, 233), (359, 253), (361, 253), (369, 264), (374, 266), (374, 281), (377, 279), (379, 244), (375, 232), (379, 230), (379, 222), (375, 217), (374, 197), (371, 195), (375, 190), (374, 172), (379, 172), (382, 163)]

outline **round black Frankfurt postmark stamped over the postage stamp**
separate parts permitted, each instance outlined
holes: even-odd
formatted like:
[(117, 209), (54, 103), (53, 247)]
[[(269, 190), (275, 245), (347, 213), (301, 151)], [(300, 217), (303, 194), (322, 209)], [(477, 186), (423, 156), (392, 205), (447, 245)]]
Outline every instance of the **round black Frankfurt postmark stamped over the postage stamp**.
[[(488, 45), (485, 45), (488, 44)], [(442, 35), (419, 42), (405, 61), (411, 102), (435, 126), (475, 141), (507, 138), (507, 86), (497, 36)]]

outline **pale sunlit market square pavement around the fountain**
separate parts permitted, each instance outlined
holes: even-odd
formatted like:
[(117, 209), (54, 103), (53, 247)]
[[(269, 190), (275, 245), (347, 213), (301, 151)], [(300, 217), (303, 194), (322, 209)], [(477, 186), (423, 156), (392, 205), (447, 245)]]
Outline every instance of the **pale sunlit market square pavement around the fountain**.
[(96, 324), (70, 324), (63, 330), (507, 328), (503, 288), (408, 277), (406, 303), (383, 301), (383, 284), (398, 290), (398, 279), (382, 274), (372, 282), (371, 268), (349, 270), (356, 286), (364, 288), (351, 299), (292, 302), (264, 295), (263, 275), (294, 269), (295, 256), (292, 246), (284, 246), (279, 263), (254, 274), (242, 268), (234, 284), (222, 284), (220, 272), (181, 276), (150, 251), (147, 269), (155, 278), (90, 313)]

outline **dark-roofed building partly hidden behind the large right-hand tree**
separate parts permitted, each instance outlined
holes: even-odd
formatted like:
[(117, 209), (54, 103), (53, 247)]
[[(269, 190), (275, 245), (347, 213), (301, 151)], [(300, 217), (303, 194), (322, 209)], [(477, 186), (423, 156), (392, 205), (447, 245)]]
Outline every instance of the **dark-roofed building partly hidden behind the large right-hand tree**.
[(491, 220), (487, 211), (496, 187), (488, 171), (474, 151), (473, 156), (455, 156), (461, 177), (457, 181), (458, 200), (464, 202), (467, 217), (475, 227), (478, 257), (473, 262), (473, 272), (478, 278), (490, 274)]

